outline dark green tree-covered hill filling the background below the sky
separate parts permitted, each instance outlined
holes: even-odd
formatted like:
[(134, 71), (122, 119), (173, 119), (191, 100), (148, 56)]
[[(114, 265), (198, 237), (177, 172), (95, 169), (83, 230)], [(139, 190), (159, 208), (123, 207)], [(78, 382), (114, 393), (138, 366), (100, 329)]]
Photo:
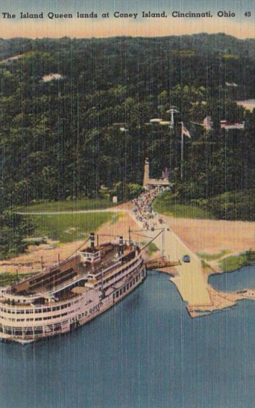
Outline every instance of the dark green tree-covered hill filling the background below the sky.
[[(0, 45), (2, 209), (96, 197), (101, 184), (141, 184), (146, 156), (152, 176), (171, 170), (180, 200), (253, 188), (255, 114), (235, 100), (254, 98), (255, 40), (198, 34), (15, 38)], [(167, 126), (145, 124), (152, 117), (168, 120), (170, 105), (178, 106), (176, 120), (192, 134), (185, 138), (183, 181), (180, 126), (169, 137)], [(207, 115), (212, 132), (191, 124)], [(226, 133), (221, 119), (245, 120), (245, 130)]]

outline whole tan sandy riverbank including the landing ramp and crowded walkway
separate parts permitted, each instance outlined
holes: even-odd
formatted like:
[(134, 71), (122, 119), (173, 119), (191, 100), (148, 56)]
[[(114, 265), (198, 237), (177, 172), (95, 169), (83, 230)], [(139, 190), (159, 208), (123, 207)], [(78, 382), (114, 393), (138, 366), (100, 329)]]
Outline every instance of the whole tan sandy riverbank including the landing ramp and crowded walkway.
[[(108, 236), (123, 236), (124, 239), (129, 239), (130, 234), (132, 240), (140, 246), (154, 239), (156, 251), (150, 256), (148, 252), (143, 251), (144, 257), (153, 258), (157, 253), (161, 253), (167, 261), (179, 263), (174, 268), (163, 268), (162, 271), (172, 275), (171, 281), (186, 302), (191, 317), (230, 307), (240, 299), (254, 299), (253, 288), (243, 288), (250, 290), (242, 293), (225, 293), (217, 291), (208, 283), (211, 274), (221, 272), (216, 254), (222, 253), (219, 257), (222, 260), (229, 254), (237, 254), (254, 247), (254, 223), (194, 220), (157, 214), (153, 210), (152, 201), (162, 191), (162, 187), (151, 186), (132, 202), (108, 209), (107, 211), (116, 214), (116, 218), (98, 228), (100, 243), (106, 242)], [(157, 236), (160, 230), (163, 235)], [(17, 271), (21, 274), (39, 271), (52, 260), (70, 256), (83, 243), (84, 241), (76, 241), (61, 244), (56, 248), (52, 248), (50, 244), (31, 247), (26, 254), (1, 261), (0, 271)], [(205, 262), (203, 254), (209, 258), (211, 256), (211, 259)]]

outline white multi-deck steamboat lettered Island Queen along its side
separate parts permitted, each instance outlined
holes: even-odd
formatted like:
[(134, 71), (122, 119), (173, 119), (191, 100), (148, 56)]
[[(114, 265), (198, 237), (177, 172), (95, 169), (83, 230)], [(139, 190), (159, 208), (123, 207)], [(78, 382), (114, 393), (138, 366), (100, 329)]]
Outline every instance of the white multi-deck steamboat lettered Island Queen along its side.
[(0, 340), (20, 344), (66, 333), (109, 309), (146, 278), (131, 241), (90, 246), (0, 293)]

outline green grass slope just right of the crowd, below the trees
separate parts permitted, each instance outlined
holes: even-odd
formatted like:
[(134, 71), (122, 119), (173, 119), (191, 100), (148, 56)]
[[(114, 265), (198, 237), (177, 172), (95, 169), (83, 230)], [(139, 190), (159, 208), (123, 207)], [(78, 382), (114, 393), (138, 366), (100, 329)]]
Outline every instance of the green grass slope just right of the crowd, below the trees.
[(157, 213), (172, 215), (176, 218), (214, 219), (214, 216), (199, 206), (179, 204), (172, 201), (171, 193), (160, 194), (153, 201), (153, 208)]

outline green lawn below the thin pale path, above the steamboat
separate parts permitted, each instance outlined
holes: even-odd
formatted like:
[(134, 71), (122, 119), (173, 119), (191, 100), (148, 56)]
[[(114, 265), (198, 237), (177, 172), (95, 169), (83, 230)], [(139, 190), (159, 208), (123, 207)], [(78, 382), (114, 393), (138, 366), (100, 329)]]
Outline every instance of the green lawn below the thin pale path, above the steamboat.
[(86, 233), (95, 231), (101, 224), (111, 221), (114, 213), (52, 214), (30, 216), (37, 225), (35, 235), (60, 242), (71, 242), (86, 238)]

